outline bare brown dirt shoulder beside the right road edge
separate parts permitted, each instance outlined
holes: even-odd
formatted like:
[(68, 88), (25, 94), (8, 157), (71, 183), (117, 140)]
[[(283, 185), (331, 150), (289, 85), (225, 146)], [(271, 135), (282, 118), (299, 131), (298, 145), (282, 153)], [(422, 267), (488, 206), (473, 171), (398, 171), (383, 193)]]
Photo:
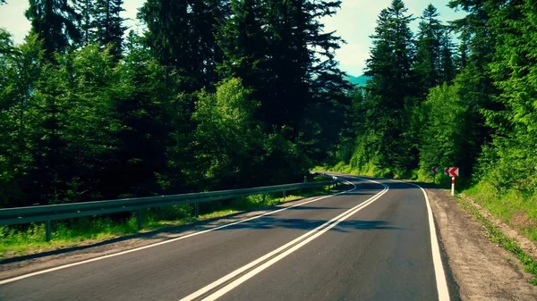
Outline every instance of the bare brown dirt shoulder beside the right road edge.
[[(482, 223), (465, 211), (455, 197), (449, 196), (447, 190), (426, 190), (447, 262), (463, 300), (537, 300), (537, 286), (530, 283), (532, 275), (524, 272), (515, 255), (492, 243)], [(520, 237), (483, 208), (476, 207), (509, 238)], [(532, 254), (534, 245), (527, 238), (518, 244)]]

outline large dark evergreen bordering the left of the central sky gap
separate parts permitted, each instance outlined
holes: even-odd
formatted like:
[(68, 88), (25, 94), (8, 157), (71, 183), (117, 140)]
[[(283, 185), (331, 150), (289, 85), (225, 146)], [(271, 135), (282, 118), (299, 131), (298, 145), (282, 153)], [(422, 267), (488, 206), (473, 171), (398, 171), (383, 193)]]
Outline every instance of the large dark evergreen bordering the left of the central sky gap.
[[(260, 101), (258, 118), (270, 131), (310, 140), (303, 122), (313, 106), (347, 101), (349, 88), (337, 68), (334, 50), (342, 42), (324, 33), (319, 18), (334, 14), (340, 2), (234, 0), (219, 45), (226, 54), (221, 70), (243, 79)], [(336, 97), (337, 99), (330, 98)], [(348, 105), (348, 104), (347, 104)], [(324, 107), (327, 112), (327, 107)], [(307, 137), (307, 138), (306, 138)], [(325, 152), (326, 153), (326, 152)]]

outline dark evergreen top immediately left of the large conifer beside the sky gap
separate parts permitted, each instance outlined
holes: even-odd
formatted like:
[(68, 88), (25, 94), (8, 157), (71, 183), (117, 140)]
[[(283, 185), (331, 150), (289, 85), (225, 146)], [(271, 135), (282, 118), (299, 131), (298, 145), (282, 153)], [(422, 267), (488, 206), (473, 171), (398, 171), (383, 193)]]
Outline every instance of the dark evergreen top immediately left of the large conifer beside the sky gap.
[(222, 61), (216, 26), (226, 14), (221, 0), (148, 0), (141, 7), (139, 18), (148, 26), (145, 41), (162, 65), (175, 70), (183, 91), (215, 84)]

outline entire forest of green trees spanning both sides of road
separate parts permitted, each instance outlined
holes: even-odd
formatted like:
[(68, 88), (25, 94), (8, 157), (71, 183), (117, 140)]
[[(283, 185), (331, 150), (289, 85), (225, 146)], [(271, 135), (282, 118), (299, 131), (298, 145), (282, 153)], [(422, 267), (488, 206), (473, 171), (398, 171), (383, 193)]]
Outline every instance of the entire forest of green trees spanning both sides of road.
[(537, 193), (534, 1), (452, 0), (465, 17), (442, 24), (393, 0), (354, 89), (320, 21), (339, 1), (148, 0), (128, 38), (122, 5), (31, 0), (25, 42), (0, 31), (2, 206), (268, 185), (320, 163), (456, 165)]

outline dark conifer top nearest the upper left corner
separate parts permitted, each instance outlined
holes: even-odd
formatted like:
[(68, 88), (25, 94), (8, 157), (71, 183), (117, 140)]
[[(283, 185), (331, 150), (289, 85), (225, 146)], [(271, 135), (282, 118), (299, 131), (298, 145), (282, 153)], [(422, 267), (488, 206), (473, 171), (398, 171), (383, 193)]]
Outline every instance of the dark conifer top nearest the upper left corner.
[(54, 52), (64, 52), (81, 38), (77, 27), (81, 17), (67, 0), (30, 0), (25, 15), (32, 32), (43, 39), (50, 59)]

